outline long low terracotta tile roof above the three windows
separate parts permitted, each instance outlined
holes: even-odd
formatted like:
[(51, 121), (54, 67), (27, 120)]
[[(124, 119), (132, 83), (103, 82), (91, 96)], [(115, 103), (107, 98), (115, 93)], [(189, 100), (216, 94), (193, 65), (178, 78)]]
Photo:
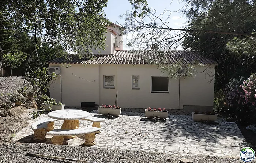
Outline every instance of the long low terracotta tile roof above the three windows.
[(115, 51), (113, 54), (94, 54), (95, 59), (85, 60), (74, 56), (71, 60), (63, 58), (50, 60), (49, 63), (85, 63), (85, 64), (174, 64), (179, 61), (193, 64), (216, 64), (196, 51)]

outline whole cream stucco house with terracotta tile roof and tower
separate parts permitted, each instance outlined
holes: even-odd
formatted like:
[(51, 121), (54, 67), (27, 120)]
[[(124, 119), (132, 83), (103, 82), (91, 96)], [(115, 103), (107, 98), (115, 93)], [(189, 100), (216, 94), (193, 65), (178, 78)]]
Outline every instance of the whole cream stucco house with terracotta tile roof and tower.
[[(118, 29), (107, 27), (105, 51), (96, 59), (63, 58), (48, 62), (60, 67), (60, 73), (50, 85), (50, 97), (67, 107), (80, 107), (81, 102), (95, 102), (122, 108), (166, 108), (182, 110), (184, 106), (213, 106), (215, 62), (195, 51), (124, 51)], [(117, 39), (116, 39), (117, 38)], [(119, 47), (115, 42), (119, 41)], [(164, 53), (164, 60), (159, 53)], [(196, 76), (168, 79), (158, 63), (172, 64), (182, 58), (206, 65), (196, 67)], [(69, 68), (61, 67), (68, 63)], [(86, 64), (84, 66), (84, 64)]]

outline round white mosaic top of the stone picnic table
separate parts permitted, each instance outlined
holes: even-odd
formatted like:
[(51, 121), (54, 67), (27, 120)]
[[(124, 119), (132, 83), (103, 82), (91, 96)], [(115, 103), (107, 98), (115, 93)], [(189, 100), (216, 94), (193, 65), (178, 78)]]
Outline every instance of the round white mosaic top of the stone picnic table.
[(83, 110), (56, 110), (48, 113), (48, 116), (53, 119), (59, 120), (75, 120), (83, 119), (90, 116), (90, 113)]

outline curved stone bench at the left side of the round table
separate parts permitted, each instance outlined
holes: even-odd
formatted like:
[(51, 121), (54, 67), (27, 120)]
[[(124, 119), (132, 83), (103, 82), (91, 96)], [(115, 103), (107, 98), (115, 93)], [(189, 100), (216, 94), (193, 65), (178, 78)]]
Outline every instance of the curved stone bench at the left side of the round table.
[(31, 129), (34, 131), (34, 140), (42, 141), (45, 140), (45, 133), (54, 129), (54, 122), (57, 119), (44, 118), (34, 122)]

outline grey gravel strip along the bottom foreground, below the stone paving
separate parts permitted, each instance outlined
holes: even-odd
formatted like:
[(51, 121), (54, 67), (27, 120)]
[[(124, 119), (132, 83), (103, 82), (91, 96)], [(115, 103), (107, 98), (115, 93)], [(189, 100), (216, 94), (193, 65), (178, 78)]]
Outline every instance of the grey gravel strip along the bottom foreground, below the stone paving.
[[(115, 150), (105, 148), (53, 145), (42, 143), (27, 144), (0, 144), (0, 163), (73, 163), (71, 161), (29, 157), (26, 153), (58, 156), (64, 158), (80, 159), (102, 163), (108, 159), (108, 163), (180, 163), (179, 156), (164, 153), (151, 153), (132, 150)], [(119, 159), (123, 157), (123, 159)], [(217, 156), (182, 156), (193, 163), (241, 163), (239, 159), (222, 158)], [(169, 161), (167, 161), (169, 159)], [(253, 161), (255, 163), (255, 161)]]

